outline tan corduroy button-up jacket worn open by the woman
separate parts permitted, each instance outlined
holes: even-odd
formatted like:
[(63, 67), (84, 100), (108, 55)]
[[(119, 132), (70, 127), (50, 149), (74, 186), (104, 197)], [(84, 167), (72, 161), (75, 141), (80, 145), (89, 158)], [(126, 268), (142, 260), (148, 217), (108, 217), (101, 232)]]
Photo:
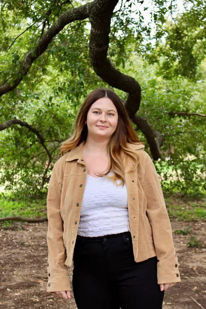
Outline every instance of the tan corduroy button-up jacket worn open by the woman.
[[(53, 167), (47, 196), (48, 284), (47, 291), (71, 290), (68, 267), (78, 233), (87, 168), (82, 158), (84, 142), (62, 156)], [(125, 164), (128, 196), (128, 228), (136, 262), (157, 256), (158, 284), (180, 282), (178, 260), (172, 239), (162, 188), (155, 166), (142, 144), (128, 144), (137, 151), (140, 163), (128, 172), (133, 159)], [(126, 161), (125, 161), (126, 162)]]

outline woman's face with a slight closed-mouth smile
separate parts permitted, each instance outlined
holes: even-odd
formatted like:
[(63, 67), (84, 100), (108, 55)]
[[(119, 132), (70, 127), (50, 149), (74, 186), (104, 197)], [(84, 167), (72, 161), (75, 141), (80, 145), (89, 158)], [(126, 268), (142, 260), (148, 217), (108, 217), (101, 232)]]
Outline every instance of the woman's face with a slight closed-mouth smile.
[(116, 130), (117, 121), (117, 109), (111, 99), (98, 99), (87, 113), (88, 134), (109, 139)]

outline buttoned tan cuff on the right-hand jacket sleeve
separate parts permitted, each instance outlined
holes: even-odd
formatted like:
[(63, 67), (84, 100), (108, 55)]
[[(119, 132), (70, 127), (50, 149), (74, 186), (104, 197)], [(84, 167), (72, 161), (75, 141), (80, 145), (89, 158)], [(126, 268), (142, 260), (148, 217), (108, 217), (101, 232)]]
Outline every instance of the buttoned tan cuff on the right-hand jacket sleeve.
[(181, 282), (178, 260), (174, 252), (167, 259), (157, 263), (158, 284)]

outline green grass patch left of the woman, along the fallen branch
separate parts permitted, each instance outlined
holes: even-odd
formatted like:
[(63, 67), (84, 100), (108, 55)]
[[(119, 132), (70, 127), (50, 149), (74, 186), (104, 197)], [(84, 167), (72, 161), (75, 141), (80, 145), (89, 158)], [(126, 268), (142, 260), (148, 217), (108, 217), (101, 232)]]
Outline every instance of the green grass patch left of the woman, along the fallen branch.
[[(41, 218), (46, 217), (46, 199), (16, 200), (11, 194), (0, 194), (0, 218), (3, 217)], [(3, 226), (11, 225), (12, 221), (0, 222)]]

